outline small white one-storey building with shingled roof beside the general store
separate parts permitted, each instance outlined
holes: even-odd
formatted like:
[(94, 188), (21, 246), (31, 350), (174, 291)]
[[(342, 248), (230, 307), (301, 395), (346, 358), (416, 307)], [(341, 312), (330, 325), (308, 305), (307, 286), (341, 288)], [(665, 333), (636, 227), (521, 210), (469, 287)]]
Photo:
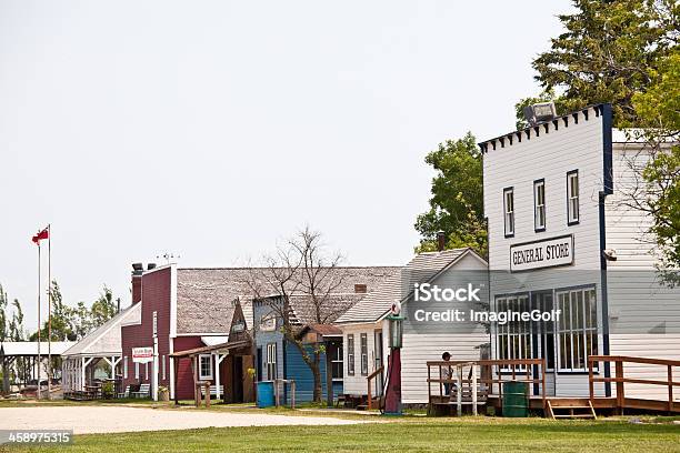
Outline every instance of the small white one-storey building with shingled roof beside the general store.
[[(384, 365), (382, 375), (371, 381), (371, 395), (382, 394), (382, 378), (389, 373), (390, 353), (386, 316), (392, 303), (400, 301), (407, 318), (401, 348), (401, 401), (404, 404), (428, 403), (426, 363), (441, 360), (444, 351), (457, 360), (478, 360), (480, 346), (489, 343), (489, 333), (480, 323), (424, 321), (424, 310), (433, 305), (414, 300), (416, 284), (440, 289), (467, 289), (473, 284), (481, 290), (479, 295), (484, 301), (487, 279), (487, 262), (471, 249), (416, 255), (399, 274), (388, 279), (336, 321), (343, 340), (343, 393), (367, 395), (367, 378)], [(444, 305), (449, 306), (446, 302)], [(419, 310), (423, 311), (417, 313)]]

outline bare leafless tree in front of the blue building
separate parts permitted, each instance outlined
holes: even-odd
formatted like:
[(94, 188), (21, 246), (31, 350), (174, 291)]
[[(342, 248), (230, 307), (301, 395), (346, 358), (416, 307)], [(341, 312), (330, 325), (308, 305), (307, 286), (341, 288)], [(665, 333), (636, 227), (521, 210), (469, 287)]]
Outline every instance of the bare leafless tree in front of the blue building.
[[(282, 320), (281, 333), (293, 344), (314, 379), (313, 401), (320, 403), (321, 344), (304, 343), (301, 330), (306, 324), (327, 324), (346, 310), (338, 306), (338, 290), (343, 282), (340, 253), (328, 252), (321, 234), (309, 226), (299, 231), (272, 255), (263, 259), (260, 268), (250, 268), (249, 285), (256, 298), (264, 301), (272, 313)], [(293, 305), (304, 305), (300, 316)], [(302, 318), (302, 319), (300, 319)]]

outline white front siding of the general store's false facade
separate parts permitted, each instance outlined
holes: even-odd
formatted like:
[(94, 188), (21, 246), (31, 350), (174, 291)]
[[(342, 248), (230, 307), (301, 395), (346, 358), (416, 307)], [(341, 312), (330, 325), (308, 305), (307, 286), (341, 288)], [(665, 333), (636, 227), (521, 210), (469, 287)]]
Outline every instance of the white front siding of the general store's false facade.
[[(598, 324), (602, 331), (600, 284), (600, 221), (599, 194), (603, 190), (603, 135), (602, 117), (589, 110), (589, 120), (578, 113), (579, 122), (568, 117), (558, 129), (550, 123), (549, 133), (539, 127), (539, 137), (531, 130), (531, 139), (522, 133), (513, 144), (506, 139), (504, 148), (497, 142), (484, 154), (484, 213), (489, 220), (489, 268), (491, 300), (497, 294), (519, 293), (556, 288), (592, 284), (597, 290)], [(567, 221), (567, 173), (579, 172), (579, 224)], [(534, 231), (533, 181), (546, 181), (546, 230)], [(504, 238), (503, 189), (514, 190), (514, 236)], [(510, 269), (512, 244), (573, 234), (573, 265), (544, 269), (524, 273), (506, 273)], [(502, 272), (493, 272), (502, 271)], [(578, 271), (578, 272), (577, 272)], [(496, 341), (491, 342), (492, 358), (497, 358)], [(599, 352), (602, 336), (599, 335)], [(587, 395), (588, 376), (583, 374), (554, 373), (548, 376), (548, 393), (556, 395)]]

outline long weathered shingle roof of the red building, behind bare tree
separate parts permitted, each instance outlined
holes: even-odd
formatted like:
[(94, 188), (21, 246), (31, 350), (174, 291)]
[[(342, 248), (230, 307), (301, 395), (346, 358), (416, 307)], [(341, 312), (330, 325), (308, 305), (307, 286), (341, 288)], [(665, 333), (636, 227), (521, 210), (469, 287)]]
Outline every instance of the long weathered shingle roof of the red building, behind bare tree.
[[(338, 304), (343, 311), (364, 295), (354, 293), (354, 284), (366, 284), (370, 291), (378, 288), (382, 281), (393, 275), (399, 269), (396, 266), (333, 268), (330, 271), (332, 272), (331, 280), (337, 284), (333, 294), (339, 298)], [(178, 269), (177, 332), (180, 334), (228, 334), (237, 299), (240, 301), (250, 328), (252, 299), (274, 292), (274, 289), (268, 288), (267, 282), (260, 278), (268, 271), (266, 268)], [(253, 291), (253, 284), (258, 291)], [(304, 301), (301, 296), (299, 304), (294, 306), (300, 322), (316, 322), (309, 301)], [(334, 304), (332, 306), (334, 306), (333, 311), (338, 310)], [(331, 319), (337, 318), (333, 313), (329, 314)]]

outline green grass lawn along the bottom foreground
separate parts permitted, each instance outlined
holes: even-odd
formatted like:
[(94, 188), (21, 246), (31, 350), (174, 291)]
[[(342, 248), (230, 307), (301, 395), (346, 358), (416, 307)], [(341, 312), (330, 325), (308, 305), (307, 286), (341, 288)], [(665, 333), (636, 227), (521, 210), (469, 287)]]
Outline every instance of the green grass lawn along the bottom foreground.
[[(380, 420), (380, 419), (378, 419)], [(384, 420), (384, 419), (382, 419)], [(671, 420), (549, 421), (543, 419), (389, 419), (347, 426), (222, 427), (76, 436), (73, 445), (7, 451), (46, 452), (680, 452)]]

